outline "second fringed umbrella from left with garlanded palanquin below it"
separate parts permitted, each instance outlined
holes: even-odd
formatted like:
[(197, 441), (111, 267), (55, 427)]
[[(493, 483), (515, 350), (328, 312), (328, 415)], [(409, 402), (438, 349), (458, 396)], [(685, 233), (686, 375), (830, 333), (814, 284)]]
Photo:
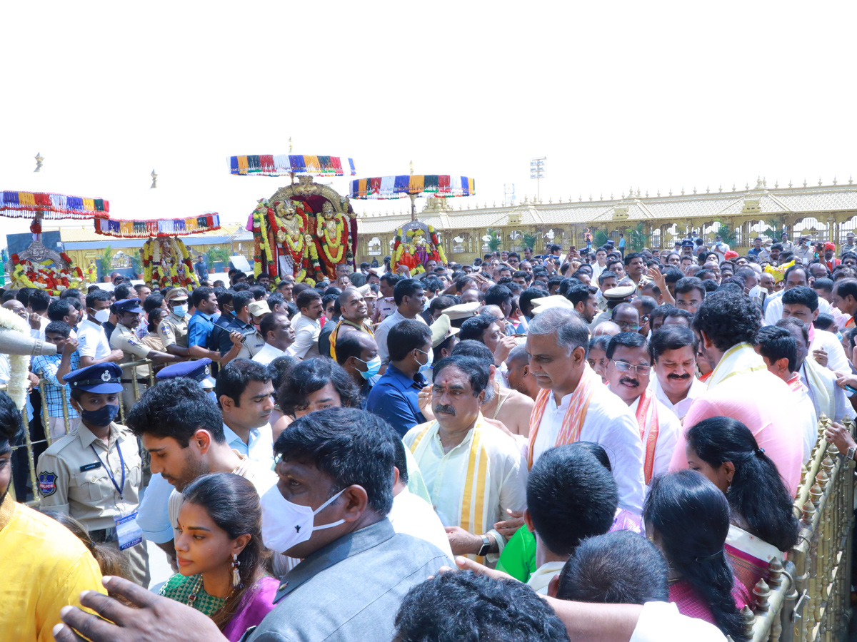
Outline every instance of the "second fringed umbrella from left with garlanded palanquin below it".
[(148, 239), (143, 244), (143, 273), (147, 283), (194, 288), (200, 284), (180, 236), (220, 229), (216, 211), (201, 210), (195, 194), (158, 187), (152, 170), (152, 187), (140, 199), (118, 200), (121, 217), (95, 221), (95, 233), (121, 239)]

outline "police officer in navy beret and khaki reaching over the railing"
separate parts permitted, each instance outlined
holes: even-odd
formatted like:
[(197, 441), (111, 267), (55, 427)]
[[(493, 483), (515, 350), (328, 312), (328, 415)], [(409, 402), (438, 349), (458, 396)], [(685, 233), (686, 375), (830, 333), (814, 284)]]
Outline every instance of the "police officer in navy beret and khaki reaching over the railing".
[[(143, 308), (139, 299), (123, 299), (113, 304), (116, 309), (116, 330), (110, 337), (110, 345), (114, 350), (122, 350), (120, 364), (130, 361), (150, 359), (157, 363), (172, 363), (182, 358), (175, 354), (166, 354), (149, 348), (137, 338), (137, 326), (140, 325), (140, 315)], [(165, 322), (162, 321), (161, 324)], [(149, 384), (149, 366), (137, 366), (122, 369), (122, 406), (123, 412), (128, 413), (137, 401), (135, 395), (135, 377), (137, 395), (142, 395)]]

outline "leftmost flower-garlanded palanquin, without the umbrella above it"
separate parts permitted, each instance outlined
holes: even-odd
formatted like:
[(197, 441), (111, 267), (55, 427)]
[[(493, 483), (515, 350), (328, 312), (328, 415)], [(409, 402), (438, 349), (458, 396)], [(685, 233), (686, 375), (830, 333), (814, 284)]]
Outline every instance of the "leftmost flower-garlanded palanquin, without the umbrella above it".
[(81, 289), (84, 283), (81, 268), (68, 254), (57, 253), (42, 243), (41, 217), (30, 223), (33, 242), (20, 254), (12, 254), (12, 287), (39, 288), (58, 295), (64, 289)]

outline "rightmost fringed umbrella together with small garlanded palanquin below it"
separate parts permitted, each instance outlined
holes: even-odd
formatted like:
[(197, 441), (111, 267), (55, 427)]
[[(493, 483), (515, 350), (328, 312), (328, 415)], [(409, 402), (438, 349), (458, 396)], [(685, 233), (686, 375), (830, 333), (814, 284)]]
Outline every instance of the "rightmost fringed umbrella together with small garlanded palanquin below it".
[[(357, 178), (351, 181), (349, 192), (352, 199), (411, 199), (411, 223), (406, 223), (396, 230), (392, 268), (395, 271), (401, 264), (406, 265), (412, 272), (424, 271), (423, 266), (429, 260), (446, 265), (446, 254), (434, 227), (417, 221), (417, 199), (428, 196), (451, 199), (475, 194), (472, 178), (447, 174), (414, 174), (414, 163), (411, 163), (411, 174)], [(426, 235), (428, 243), (424, 239)]]

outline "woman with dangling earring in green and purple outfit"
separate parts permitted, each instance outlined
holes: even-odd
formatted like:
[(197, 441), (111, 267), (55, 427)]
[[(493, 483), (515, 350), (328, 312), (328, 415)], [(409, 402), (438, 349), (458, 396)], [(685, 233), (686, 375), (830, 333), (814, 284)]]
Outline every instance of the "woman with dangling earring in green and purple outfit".
[(183, 490), (178, 514), (178, 574), (160, 594), (208, 615), (237, 642), (273, 609), (279, 581), (264, 575), (255, 486), (230, 473), (203, 475)]

